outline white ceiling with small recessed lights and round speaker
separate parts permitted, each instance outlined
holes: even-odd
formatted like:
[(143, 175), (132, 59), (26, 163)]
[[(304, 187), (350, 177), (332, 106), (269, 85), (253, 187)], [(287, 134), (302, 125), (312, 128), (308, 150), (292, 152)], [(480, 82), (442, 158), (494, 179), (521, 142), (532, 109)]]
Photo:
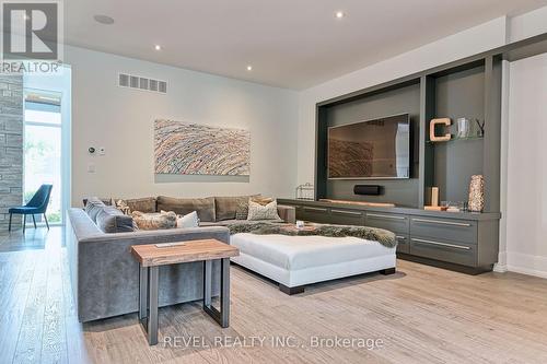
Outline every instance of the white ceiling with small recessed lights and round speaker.
[[(68, 0), (65, 30), (71, 45), (301, 90), (545, 4), (547, 0)], [(347, 16), (335, 19), (338, 10)], [(98, 24), (95, 14), (115, 23)], [(155, 44), (163, 49), (155, 51)]]

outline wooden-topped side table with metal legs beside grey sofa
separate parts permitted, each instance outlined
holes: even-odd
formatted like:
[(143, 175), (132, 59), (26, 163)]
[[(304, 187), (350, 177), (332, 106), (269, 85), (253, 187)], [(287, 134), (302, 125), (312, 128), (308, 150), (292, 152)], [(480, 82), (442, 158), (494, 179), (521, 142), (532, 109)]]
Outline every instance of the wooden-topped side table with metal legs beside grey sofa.
[[(159, 244), (161, 245), (161, 244)], [(158, 343), (158, 281), (160, 266), (191, 261), (203, 262), (203, 310), (223, 328), (230, 325), (230, 257), (240, 255), (236, 247), (216, 239), (133, 245), (131, 253), (140, 265), (139, 320), (150, 345)], [(212, 306), (212, 261), (220, 260), (220, 310)]]

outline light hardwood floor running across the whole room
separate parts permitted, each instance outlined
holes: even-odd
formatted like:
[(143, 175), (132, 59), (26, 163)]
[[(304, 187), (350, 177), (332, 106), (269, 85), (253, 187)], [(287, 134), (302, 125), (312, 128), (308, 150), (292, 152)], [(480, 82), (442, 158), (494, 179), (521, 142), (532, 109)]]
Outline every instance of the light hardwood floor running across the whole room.
[[(247, 341), (221, 347), (216, 337)], [(271, 344), (276, 337), (298, 348)], [(314, 337), (383, 345), (312, 348)], [(264, 345), (243, 345), (253, 338)], [(231, 327), (183, 304), (160, 309), (159, 341), (147, 344), (135, 314), (78, 322), (61, 228), (0, 233), (0, 363), (547, 363), (547, 280), (398, 261), (394, 275), (288, 296), (232, 267)]]

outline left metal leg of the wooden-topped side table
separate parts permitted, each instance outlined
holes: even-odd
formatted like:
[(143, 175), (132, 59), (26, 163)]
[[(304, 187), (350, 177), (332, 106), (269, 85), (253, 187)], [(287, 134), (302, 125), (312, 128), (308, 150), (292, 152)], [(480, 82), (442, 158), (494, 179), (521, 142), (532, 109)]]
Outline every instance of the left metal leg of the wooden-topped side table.
[(147, 332), (148, 343), (158, 343), (158, 281), (160, 267), (140, 268), (139, 319)]

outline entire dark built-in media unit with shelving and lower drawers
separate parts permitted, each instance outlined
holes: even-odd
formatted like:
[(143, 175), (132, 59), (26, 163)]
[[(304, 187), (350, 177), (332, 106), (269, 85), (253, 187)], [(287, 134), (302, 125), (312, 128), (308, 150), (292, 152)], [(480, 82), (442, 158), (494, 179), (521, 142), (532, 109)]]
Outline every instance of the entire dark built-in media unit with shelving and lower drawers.
[[(397, 235), (397, 256), (467, 273), (490, 271), (498, 261), (502, 61), (547, 51), (547, 34), (509, 44), (316, 105), (315, 201), (278, 199), (296, 219), (368, 225)], [(333, 126), (409, 114), (408, 179), (328, 179), (327, 130)], [(484, 138), (433, 143), (429, 122), (458, 117), (485, 121)], [(426, 211), (428, 189), (440, 201), (466, 201), (472, 175), (485, 177), (482, 213)], [(380, 196), (353, 193), (354, 185), (381, 185)], [(394, 203), (377, 207), (322, 201)]]

